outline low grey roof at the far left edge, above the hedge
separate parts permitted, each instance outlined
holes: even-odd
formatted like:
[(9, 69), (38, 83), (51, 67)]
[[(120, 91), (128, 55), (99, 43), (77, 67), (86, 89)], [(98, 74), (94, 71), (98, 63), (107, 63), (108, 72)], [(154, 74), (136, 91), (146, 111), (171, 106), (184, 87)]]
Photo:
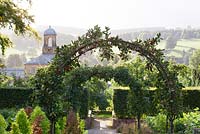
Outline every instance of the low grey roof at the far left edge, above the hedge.
[(16, 76), (17, 78), (24, 78), (24, 69), (20, 68), (3, 68), (1, 71), (7, 76)]

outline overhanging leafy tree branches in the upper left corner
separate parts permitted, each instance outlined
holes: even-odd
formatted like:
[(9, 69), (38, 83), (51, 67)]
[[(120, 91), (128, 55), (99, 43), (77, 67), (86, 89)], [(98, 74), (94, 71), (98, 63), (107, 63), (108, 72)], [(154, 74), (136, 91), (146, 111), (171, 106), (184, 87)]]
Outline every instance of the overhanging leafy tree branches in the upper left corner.
[[(27, 9), (23, 9), (12, 0), (0, 0), (0, 29), (9, 28), (17, 35), (28, 33), (39, 38), (37, 32), (30, 27), (33, 22), (33, 16), (29, 15)], [(11, 40), (1, 33), (0, 46), (2, 54), (4, 54), (7, 47), (12, 46)]]

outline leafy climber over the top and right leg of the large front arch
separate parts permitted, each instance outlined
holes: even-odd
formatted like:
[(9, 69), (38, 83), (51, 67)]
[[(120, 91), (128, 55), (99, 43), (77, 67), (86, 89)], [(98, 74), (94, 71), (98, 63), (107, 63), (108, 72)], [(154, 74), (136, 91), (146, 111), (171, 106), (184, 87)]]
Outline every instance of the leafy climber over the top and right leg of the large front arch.
[[(165, 114), (169, 117), (170, 133), (173, 133), (173, 121), (181, 113), (181, 87), (178, 84), (176, 72), (171, 71), (168, 67), (169, 63), (164, 60), (162, 50), (156, 48), (156, 45), (161, 40), (160, 36), (160, 34), (157, 34), (156, 37), (145, 41), (125, 41), (118, 36), (111, 36), (108, 27), (105, 30), (101, 30), (99, 26), (95, 26), (83, 36), (78, 37), (76, 41), (57, 49), (55, 58), (48, 68), (50, 70), (48, 76), (56, 76), (56, 81), (53, 80), (52, 84), (46, 86), (46, 88), (54, 92), (57, 85), (62, 83), (63, 74), (79, 67), (79, 57), (88, 51), (93, 52), (98, 48), (102, 59), (106, 58), (107, 60), (113, 58), (114, 52), (112, 48), (114, 46), (119, 49), (119, 56), (124, 60), (127, 59), (128, 54), (136, 51), (147, 59), (147, 69), (151, 70), (155, 66), (159, 71), (157, 86), (163, 96), (163, 101), (160, 105), (162, 105)], [(46, 78), (46, 76), (44, 77)], [(43, 86), (40, 87), (43, 88)], [(57, 89), (55, 92), (57, 92)]]

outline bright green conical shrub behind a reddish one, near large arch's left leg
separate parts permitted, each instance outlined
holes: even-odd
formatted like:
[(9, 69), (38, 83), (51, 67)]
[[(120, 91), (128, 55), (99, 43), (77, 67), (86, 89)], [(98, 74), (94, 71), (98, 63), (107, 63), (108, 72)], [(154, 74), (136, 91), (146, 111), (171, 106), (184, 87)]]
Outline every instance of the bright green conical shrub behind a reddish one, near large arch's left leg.
[[(40, 117), (40, 119), (38, 119), (38, 117)], [(48, 134), (50, 130), (50, 122), (45, 113), (38, 106), (36, 106), (31, 113), (30, 123), (33, 125), (35, 120), (39, 120), (38, 122), (40, 123), (40, 127), (42, 128), (42, 133)]]

